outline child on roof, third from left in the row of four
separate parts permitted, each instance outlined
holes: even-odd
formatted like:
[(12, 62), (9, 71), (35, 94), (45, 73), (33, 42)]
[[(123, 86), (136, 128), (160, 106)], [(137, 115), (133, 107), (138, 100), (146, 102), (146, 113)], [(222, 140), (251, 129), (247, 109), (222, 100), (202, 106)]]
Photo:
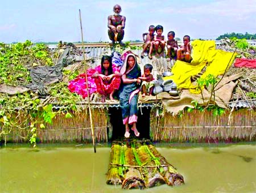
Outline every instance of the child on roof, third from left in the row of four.
[(167, 61), (170, 61), (171, 59), (177, 59), (177, 41), (174, 40), (175, 32), (171, 31), (167, 34), (168, 40), (167, 40)]

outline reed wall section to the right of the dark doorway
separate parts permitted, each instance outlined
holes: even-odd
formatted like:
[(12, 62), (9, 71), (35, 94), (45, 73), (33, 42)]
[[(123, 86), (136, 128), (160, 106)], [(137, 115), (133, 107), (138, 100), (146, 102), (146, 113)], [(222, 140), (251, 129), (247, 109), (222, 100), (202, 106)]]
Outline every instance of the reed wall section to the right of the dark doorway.
[(166, 142), (255, 141), (256, 111), (239, 109), (214, 116), (213, 111), (193, 110), (181, 117), (165, 113), (152, 120), (151, 138)]

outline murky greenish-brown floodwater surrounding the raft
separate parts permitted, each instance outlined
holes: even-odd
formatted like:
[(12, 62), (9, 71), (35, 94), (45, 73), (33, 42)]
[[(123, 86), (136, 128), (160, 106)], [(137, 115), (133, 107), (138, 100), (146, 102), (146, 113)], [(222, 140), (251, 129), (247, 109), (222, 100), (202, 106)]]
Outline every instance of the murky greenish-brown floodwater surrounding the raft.
[(256, 192), (256, 144), (156, 145), (185, 185), (122, 190), (106, 185), (110, 147), (7, 144), (0, 148), (0, 192)]

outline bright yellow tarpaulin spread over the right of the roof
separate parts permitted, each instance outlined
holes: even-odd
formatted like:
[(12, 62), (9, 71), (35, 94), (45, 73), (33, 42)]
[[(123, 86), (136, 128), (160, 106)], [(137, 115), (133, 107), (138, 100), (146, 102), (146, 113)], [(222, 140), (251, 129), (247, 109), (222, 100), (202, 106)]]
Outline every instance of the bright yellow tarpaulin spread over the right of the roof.
[(226, 68), (229, 68), (236, 54), (215, 49), (214, 41), (195, 40), (192, 42), (193, 53), (192, 62), (176, 61), (172, 67), (174, 75), (164, 78), (164, 80), (172, 79), (177, 84), (177, 88), (189, 89), (192, 93), (198, 93), (195, 85), (191, 83), (191, 76), (195, 76), (207, 66), (201, 78), (212, 74), (218, 76), (224, 74)]

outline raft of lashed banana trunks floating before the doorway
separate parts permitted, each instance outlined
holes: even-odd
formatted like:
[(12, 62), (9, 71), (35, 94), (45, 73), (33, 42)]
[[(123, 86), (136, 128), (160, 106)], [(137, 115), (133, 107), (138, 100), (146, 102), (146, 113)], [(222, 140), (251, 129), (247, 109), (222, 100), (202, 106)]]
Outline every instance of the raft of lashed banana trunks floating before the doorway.
[(164, 183), (179, 186), (184, 179), (150, 140), (125, 140), (112, 143), (106, 183), (144, 189)]

